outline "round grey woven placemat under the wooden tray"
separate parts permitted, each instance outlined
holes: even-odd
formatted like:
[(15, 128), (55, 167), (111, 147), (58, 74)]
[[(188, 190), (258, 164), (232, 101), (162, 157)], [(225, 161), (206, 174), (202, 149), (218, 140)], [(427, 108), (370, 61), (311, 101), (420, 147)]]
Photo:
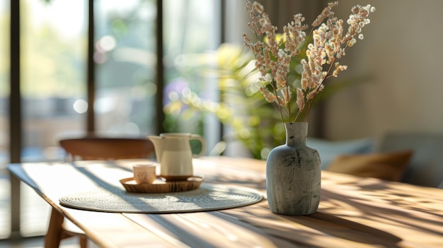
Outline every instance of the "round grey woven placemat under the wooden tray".
[(246, 206), (261, 201), (254, 189), (202, 184), (199, 189), (176, 193), (139, 194), (97, 189), (63, 196), (62, 206), (115, 213), (189, 213)]

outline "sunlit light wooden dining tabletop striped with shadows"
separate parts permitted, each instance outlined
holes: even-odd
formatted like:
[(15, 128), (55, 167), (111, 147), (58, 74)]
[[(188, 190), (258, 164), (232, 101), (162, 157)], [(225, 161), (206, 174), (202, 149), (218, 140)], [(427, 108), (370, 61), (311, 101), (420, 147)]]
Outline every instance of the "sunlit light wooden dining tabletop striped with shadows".
[(443, 189), (323, 171), (318, 211), (279, 215), (267, 205), (265, 161), (251, 158), (193, 160), (194, 172), (205, 176), (202, 186), (241, 187), (263, 196), (246, 206), (116, 213), (60, 204), (63, 196), (103, 183), (125, 190), (119, 180), (131, 177), (137, 163), (151, 161), (21, 163), (8, 170), (99, 247), (443, 247)]

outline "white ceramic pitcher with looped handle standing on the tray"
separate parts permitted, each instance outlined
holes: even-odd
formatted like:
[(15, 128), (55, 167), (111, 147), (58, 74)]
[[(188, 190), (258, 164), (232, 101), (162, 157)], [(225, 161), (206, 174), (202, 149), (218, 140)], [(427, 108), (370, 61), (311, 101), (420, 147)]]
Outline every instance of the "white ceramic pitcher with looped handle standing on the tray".
[[(166, 133), (148, 137), (154, 143), (156, 158), (160, 163), (160, 175), (169, 181), (192, 177), (192, 158), (199, 158), (206, 152), (205, 139), (198, 134)], [(192, 152), (191, 140), (202, 143), (200, 153)]]

